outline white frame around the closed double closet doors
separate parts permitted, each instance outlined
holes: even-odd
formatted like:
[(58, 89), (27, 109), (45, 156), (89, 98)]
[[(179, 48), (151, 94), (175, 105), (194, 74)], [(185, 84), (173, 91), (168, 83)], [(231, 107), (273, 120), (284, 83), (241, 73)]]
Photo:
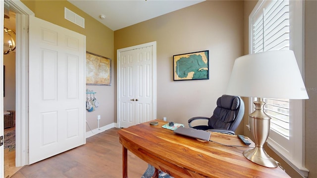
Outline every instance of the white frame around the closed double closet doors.
[(157, 42), (117, 49), (117, 127), (120, 128), (120, 52), (153, 46), (153, 118), (157, 118)]

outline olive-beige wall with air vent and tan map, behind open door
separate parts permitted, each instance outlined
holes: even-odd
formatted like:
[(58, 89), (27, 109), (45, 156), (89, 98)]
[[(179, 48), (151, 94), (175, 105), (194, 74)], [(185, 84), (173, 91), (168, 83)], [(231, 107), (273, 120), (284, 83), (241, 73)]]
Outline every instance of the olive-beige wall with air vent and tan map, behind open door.
[[(35, 16), (53, 24), (78, 32), (86, 36), (86, 50), (112, 59), (113, 68), (113, 31), (95, 20), (76, 6), (66, 0), (22, 0)], [(64, 7), (85, 18), (85, 29), (64, 19)], [(112, 70), (112, 81), (113, 77)], [(100, 127), (113, 123), (114, 118), (114, 85), (111, 86), (86, 86), (97, 92), (95, 96), (100, 106), (93, 112), (86, 111), (86, 120), (92, 129), (96, 129), (97, 115), (101, 115)], [(87, 127), (87, 131), (89, 128)]]

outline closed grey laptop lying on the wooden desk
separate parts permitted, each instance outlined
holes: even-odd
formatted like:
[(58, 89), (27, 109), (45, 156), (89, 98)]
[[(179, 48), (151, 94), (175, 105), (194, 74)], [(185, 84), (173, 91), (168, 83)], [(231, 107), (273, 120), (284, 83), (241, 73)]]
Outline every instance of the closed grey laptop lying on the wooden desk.
[(207, 141), (209, 141), (210, 135), (211, 135), (211, 132), (197, 130), (194, 128), (184, 128), (184, 127), (179, 127), (178, 129), (174, 131), (174, 133), (190, 136), (190, 137), (201, 139), (201, 140), (207, 140)]

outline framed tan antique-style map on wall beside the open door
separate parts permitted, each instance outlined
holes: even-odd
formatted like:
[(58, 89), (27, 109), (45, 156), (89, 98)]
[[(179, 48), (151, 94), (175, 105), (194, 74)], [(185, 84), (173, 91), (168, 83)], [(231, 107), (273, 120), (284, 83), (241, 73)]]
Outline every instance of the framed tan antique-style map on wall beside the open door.
[(111, 59), (86, 51), (86, 85), (111, 85)]

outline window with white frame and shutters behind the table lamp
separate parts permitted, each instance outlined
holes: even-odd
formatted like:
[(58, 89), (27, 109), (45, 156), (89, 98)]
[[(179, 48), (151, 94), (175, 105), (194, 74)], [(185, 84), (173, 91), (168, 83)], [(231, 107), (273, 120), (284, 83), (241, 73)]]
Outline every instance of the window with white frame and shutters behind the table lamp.
[[(291, 49), (303, 74), (303, 7), (301, 0), (259, 0), (249, 16), (249, 53)], [(255, 99), (251, 98), (252, 101)], [(271, 117), (268, 146), (307, 177), (304, 102), (276, 98), (264, 98), (264, 101), (264, 110)], [(250, 103), (250, 111), (253, 112), (254, 105)]]

